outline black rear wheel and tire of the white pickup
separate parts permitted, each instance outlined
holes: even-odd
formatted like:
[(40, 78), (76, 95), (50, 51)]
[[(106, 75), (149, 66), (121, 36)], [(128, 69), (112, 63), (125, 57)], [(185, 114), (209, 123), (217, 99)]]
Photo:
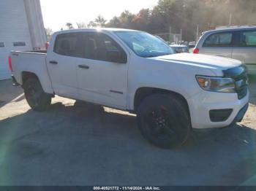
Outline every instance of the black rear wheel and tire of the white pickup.
[(23, 85), (26, 101), (31, 109), (43, 112), (50, 107), (51, 95), (42, 90), (37, 78), (29, 78)]

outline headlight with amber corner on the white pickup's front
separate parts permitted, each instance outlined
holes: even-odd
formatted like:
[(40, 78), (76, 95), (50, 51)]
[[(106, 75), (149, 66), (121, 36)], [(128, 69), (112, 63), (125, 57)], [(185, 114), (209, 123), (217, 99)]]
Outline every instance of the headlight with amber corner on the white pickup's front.
[(222, 93), (236, 92), (236, 85), (232, 78), (196, 76), (196, 79), (203, 90)]

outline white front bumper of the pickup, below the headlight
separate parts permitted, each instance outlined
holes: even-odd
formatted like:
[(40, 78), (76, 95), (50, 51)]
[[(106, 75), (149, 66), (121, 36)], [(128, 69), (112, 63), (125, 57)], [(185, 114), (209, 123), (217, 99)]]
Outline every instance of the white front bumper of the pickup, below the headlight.
[[(214, 93), (202, 90), (188, 99), (192, 128), (223, 128), (241, 122), (248, 109), (248, 103), (249, 90), (247, 95), (240, 100), (237, 93)], [(224, 121), (213, 122), (210, 118), (210, 111), (219, 109), (232, 109), (232, 112)]]

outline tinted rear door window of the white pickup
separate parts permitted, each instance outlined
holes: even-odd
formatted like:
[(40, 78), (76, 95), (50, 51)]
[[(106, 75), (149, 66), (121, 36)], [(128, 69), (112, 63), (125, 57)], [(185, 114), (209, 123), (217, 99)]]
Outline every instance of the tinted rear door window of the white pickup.
[(53, 52), (59, 55), (83, 58), (82, 33), (59, 34), (56, 36)]

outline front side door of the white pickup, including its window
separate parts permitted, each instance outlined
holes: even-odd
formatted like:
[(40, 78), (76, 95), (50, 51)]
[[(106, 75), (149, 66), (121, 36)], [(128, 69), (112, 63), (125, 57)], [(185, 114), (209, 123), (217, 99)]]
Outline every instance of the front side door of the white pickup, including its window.
[[(81, 100), (125, 109), (127, 106), (127, 52), (107, 34), (84, 34), (84, 58), (78, 66)], [(108, 61), (108, 51), (121, 52), (121, 62)]]

